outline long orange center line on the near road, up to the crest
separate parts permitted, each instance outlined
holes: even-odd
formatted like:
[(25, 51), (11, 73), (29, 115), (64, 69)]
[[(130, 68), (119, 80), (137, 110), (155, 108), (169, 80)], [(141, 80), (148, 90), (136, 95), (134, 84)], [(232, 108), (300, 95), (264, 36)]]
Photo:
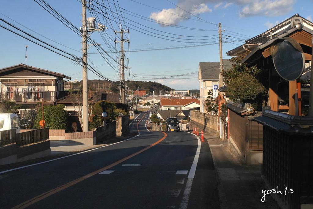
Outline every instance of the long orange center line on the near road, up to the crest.
[(139, 153), (141, 153), (141, 152), (143, 152), (143, 151), (145, 151), (145, 150), (147, 150), (147, 149), (153, 147), (154, 145), (156, 145), (156, 144), (160, 143), (162, 140), (164, 140), (164, 139), (166, 138), (167, 134), (164, 133), (164, 132), (162, 132), (162, 133), (164, 134), (164, 136), (162, 137), (162, 139), (158, 140), (157, 142), (153, 143), (152, 145), (149, 145), (149, 146), (147, 146), (146, 148), (144, 148), (144, 149), (142, 149), (142, 150), (139, 150), (138, 152), (136, 152), (136, 153), (134, 153), (134, 154), (132, 154), (132, 155), (129, 155), (129, 156), (127, 156), (127, 157), (125, 157), (125, 158), (123, 158), (123, 159), (121, 159), (121, 160), (119, 160), (119, 161), (116, 161), (115, 163), (112, 163), (112, 164), (109, 165), (109, 166), (105, 166), (104, 168), (101, 168), (101, 169), (99, 169), (99, 170), (97, 170), (97, 171), (91, 172), (91, 173), (89, 173), (89, 174), (87, 174), (87, 175), (85, 175), (85, 176), (82, 176), (82, 177), (80, 177), (80, 178), (74, 180), (74, 181), (71, 181), (71, 182), (66, 183), (66, 184), (64, 184), (64, 185), (62, 185), (62, 186), (59, 186), (59, 187), (54, 188), (54, 189), (52, 189), (52, 190), (50, 190), (50, 191), (47, 191), (47, 192), (45, 192), (45, 193), (43, 193), (43, 194), (41, 194), (41, 195), (38, 195), (38, 196), (36, 196), (36, 197), (34, 197), (34, 198), (32, 198), (32, 199), (30, 199), (30, 200), (28, 200), (28, 201), (25, 201), (25, 202), (23, 202), (23, 203), (21, 203), (21, 204), (15, 206), (15, 207), (13, 207), (13, 208), (26, 208), (26, 207), (28, 207), (28, 206), (30, 206), (30, 205), (32, 205), (32, 204), (38, 202), (38, 201), (43, 200), (43, 199), (46, 198), (46, 197), (49, 197), (49, 196), (51, 196), (51, 195), (53, 195), (53, 194), (55, 194), (55, 193), (57, 193), (57, 192), (59, 192), (59, 191), (62, 191), (62, 190), (66, 189), (66, 188), (68, 188), (68, 187), (70, 187), (70, 186), (73, 186), (73, 185), (79, 183), (80, 181), (83, 181), (83, 180), (85, 180), (85, 179), (88, 179), (88, 178), (91, 177), (91, 176), (94, 176), (94, 175), (96, 175), (96, 174), (98, 174), (98, 173), (100, 173), (100, 172), (103, 172), (103, 171), (105, 171), (105, 170), (107, 170), (107, 169), (109, 169), (109, 168), (111, 168), (111, 167), (113, 167), (113, 166), (116, 166), (117, 164), (119, 164), (119, 163), (121, 163), (121, 162), (123, 162), (123, 161), (126, 161), (126, 160), (130, 159), (131, 157), (133, 157), (133, 156), (135, 156), (135, 155), (138, 155)]

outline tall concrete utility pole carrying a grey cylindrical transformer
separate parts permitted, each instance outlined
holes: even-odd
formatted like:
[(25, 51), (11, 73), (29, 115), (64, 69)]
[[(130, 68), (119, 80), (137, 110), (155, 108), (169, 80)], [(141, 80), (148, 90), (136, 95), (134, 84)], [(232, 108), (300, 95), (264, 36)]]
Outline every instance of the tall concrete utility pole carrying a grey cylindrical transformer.
[(87, 24), (87, 2), (86, 0), (81, 0), (82, 2), (82, 27), (80, 27), (80, 32), (82, 33), (82, 51), (83, 51), (83, 131), (88, 132), (88, 74), (87, 74), (87, 38), (88, 31), (91, 33), (93, 31), (101, 31), (107, 29), (104, 25), (98, 23), (98, 29), (95, 29), (95, 18), (88, 18)]

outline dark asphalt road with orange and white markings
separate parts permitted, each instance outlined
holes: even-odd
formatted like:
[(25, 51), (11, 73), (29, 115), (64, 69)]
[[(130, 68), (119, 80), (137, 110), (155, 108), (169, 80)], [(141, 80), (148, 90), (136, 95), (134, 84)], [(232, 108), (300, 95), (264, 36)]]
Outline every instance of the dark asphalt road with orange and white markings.
[(0, 172), (0, 208), (219, 208), (207, 142), (131, 124), (131, 139)]

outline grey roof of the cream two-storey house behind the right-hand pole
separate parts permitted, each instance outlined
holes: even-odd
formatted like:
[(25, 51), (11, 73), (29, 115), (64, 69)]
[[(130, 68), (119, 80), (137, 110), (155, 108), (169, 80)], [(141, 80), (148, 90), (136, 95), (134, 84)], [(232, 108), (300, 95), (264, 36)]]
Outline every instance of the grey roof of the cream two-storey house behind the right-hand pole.
[[(223, 59), (223, 69), (228, 70), (232, 67), (229, 59)], [(219, 79), (219, 62), (201, 62), (199, 63), (198, 80), (200, 79)]]

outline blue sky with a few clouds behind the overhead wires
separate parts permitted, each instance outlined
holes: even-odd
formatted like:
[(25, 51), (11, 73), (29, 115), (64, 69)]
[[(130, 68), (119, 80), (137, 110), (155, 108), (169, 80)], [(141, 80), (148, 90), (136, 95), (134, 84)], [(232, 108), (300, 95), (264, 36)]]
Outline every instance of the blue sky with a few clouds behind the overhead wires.
[[(90, 46), (88, 64), (100, 77), (88, 71), (88, 79), (105, 77), (110, 81), (119, 80), (119, 53), (116, 51), (121, 50), (121, 43), (115, 44), (114, 40), (117, 38), (119, 41), (121, 36), (114, 30), (119, 31), (122, 25), (129, 31), (123, 38), (130, 40), (129, 44), (124, 43), (125, 66), (131, 71), (130, 74), (126, 71), (126, 79), (129, 74), (130, 80), (155, 81), (178, 90), (200, 88), (197, 81), (199, 62), (219, 62), (218, 23), (225, 30), (222, 32), (223, 59), (229, 59), (226, 52), (296, 13), (311, 22), (313, 18), (313, 0), (89, 2), (87, 18), (95, 17), (97, 23), (105, 24), (108, 29), (90, 35), (94, 43), (101, 44), (101, 48)], [(48, 7), (66, 21), (54, 17), (56, 14), (51, 15)], [(69, 59), (70, 55), (82, 57), (81, 13), (80, 0), (10, 0), (3, 3), (0, 18), (7, 23), (0, 21), (0, 68), (25, 64), (26, 61), (27, 65), (65, 74), (72, 81), (82, 80), (81, 65)], [(27, 60), (25, 45), (28, 45)]]

